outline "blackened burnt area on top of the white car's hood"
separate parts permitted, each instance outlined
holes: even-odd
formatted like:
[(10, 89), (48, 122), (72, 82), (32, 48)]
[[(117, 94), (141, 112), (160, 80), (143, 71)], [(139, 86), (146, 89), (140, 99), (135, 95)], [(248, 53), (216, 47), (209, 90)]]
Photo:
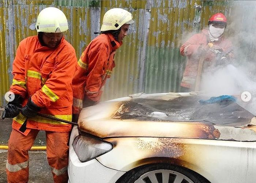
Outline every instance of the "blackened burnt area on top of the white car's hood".
[[(163, 122), (202, 122), (225, 126), (247, 125), (254, 117), (236, 103), (228, 106), (208, 104), (201, 106), (197, 101), (206, 96), (181, 96), (170, 100), (133, 99), (120, 102), (112, 119)], [(163, 117), (152, 115), (161, 112)]]

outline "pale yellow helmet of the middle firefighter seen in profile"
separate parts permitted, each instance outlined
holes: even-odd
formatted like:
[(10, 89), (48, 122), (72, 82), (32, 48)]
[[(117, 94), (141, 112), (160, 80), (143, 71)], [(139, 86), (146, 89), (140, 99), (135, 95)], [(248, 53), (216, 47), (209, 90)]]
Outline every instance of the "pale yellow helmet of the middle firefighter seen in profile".
[(132, 24), (132, 14), (125, 9), (112, 8), (105, 13), (101, 25), (101, 32), (118, 30), (124, 24)]

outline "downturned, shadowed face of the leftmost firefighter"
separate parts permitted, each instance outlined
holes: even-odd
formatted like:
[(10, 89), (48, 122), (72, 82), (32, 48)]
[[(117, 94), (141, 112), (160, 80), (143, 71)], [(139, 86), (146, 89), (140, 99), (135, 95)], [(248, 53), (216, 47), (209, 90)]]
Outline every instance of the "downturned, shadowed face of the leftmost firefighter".
[(56, 48), (60, 44), (61, 38), (64, 36), (63, 32), (61, 33), (43, 33), (42, 40), (48, 48)]

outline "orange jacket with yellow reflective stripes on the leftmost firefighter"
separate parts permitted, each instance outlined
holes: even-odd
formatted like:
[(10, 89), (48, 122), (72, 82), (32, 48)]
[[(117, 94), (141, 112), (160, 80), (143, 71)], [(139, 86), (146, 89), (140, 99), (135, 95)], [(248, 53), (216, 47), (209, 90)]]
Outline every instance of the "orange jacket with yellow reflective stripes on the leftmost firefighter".
[[(31, 100), (41, 107), (39, 113), (71, 121), (71, 82), (76, 62), (75, 49), (64, 37), (54, 49), (42, 46), (38, 36), (27, 37), (20, 42), (16, 52), (10, 91), (22, 96), (22, 106), (25, 106), (31, 97)], [(24, 135), (27, 135), (31, 128), (56, 132), (71, 130), (70, 124), (39, 116), (27, 118), (22, 114), (14, 118), (12, 127)]]

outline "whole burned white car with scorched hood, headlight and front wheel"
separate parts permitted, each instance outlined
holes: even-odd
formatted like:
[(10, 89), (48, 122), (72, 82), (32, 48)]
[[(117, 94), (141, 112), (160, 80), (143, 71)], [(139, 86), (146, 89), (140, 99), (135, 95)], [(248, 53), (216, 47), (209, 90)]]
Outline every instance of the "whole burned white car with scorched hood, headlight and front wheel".
[(207, 99), (135, 94), (84, 108), (69, 182), (255, 183), (255, 115), (236, 102), (198, 102)]

